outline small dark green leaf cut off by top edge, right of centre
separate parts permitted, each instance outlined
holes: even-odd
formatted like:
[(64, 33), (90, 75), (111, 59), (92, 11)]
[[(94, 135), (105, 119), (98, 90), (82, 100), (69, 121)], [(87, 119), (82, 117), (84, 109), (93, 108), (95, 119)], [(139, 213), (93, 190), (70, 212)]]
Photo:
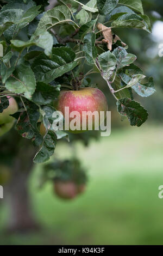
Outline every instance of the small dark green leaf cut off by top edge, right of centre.
[(99, 10), (99, 14), (109, 14), (116, 7), (117, 3), (118, 0), (97, 0), (97, 8)]

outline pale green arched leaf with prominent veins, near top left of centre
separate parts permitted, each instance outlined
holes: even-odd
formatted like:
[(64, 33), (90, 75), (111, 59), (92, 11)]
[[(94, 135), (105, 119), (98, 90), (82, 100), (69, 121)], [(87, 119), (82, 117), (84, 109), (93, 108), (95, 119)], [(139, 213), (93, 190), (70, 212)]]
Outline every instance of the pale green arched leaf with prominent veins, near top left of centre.
[(48, 30), (56, 25), (61, 25), (66, 22), (71, 22), (70, 10), (68, 10), (65, 5), (59, 5), (46, 11), (37, 26), (36, 33), (39, 33), (40, 29)]

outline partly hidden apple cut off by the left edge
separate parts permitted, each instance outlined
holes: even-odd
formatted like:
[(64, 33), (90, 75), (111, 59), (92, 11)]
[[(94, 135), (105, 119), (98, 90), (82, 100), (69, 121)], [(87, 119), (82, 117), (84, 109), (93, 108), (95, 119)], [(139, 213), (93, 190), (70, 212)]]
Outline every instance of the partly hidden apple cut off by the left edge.
[[(0, 136), (8, 132), (14, 125), (14, 117), (11, 117), (10, 114), (14, 114), (18, 110), (17, 102), (13, 97), (9, 97), (9, 106), (0, 113)], [(1, 100), (0, 100), (1, 103)]]

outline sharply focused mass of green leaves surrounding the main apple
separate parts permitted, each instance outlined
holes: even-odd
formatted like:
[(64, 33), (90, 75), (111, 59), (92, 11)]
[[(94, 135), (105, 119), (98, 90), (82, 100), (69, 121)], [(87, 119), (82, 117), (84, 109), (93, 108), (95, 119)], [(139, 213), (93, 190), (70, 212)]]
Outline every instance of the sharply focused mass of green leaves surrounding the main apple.
[[(118, 112), (131, 125), (147, 120), (148, 113), (134, 101), (133, 91), (143, 97), (152, 95), (153, 79), (147, 80), (133, 64), (136, 56), (127, 52), (126, 44), (113, 32), (124, 27), (151, 32), (141, 0), (90, 0), (87, 4), (58, 0), (56, 7), (45, 12), (47, 1), (7, 2), (0, 12), (0, 112), (8, 107), (7, 95), (20, 100), (14, 114), (16, 129), (39, 147), (34, 162), (47, 161), (57, 139), (67, 136), (52, 127), (53, 101), (60, 89), (93, 86), (87, 78), (93, 72), (102, 75)], [(91, 70), (85, 72), (85, 66)], [(40, 135), (41, 121), (45, 136)]]

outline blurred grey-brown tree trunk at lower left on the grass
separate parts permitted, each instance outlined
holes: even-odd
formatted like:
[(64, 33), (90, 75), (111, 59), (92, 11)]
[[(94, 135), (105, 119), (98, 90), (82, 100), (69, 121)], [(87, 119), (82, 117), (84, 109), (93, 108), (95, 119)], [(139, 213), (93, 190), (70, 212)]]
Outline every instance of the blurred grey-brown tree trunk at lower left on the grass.
[[(28, 181), (36, 152), (30, 141), (18, 137), (15, 132), (11, 134), (12, 139), (7, 137), (1, 141), (2, 147), (0, 149), (0, 154), (9, 154), (11, 158), (11, 179), (4, 187), (3, 199), (4, 203), (9, 204), (7, 230), (10, 232), (27, 232), (39, 228), (33, 215), (28, 192)], [(4, 162), (2, 163), (4, 164)]]

